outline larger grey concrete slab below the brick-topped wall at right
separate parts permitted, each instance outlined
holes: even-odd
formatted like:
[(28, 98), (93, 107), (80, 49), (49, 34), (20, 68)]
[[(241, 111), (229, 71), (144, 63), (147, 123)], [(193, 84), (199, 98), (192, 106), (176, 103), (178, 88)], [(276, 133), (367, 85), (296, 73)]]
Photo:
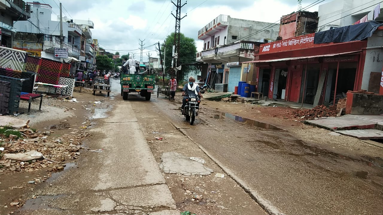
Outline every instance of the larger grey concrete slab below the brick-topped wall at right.
[(375, 129), (376, 123), (383, 121), (383, 116), (369, 115), (350, 115), (318, 119), (306, 120), (308, 124), (316, 125), (330, 130), (350, 130), (350, 129)]

